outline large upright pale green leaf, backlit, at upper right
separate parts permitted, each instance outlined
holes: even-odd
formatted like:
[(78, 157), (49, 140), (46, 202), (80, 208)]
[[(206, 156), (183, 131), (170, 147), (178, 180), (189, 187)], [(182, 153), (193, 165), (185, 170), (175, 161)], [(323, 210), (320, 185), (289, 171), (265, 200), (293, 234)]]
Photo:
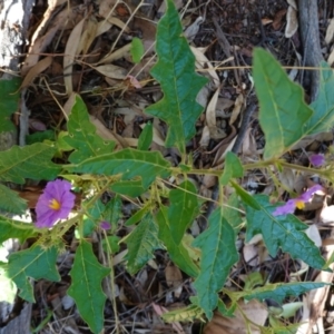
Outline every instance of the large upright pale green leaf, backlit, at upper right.
[(253, 77), (259, 101), (259, 124), (265, 134), (264, 158), (279, 157), (305, 134), (313, 111), (299, 85), (263, 49), (255, 49)]

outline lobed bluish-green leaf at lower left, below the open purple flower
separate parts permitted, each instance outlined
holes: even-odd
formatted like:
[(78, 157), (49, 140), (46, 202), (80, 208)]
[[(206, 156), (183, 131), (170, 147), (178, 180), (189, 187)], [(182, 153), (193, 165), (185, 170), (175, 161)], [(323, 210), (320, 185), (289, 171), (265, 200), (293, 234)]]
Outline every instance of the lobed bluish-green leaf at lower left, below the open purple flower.
[(29, 249), (13, 253), (8, 259), (8, 274), (20, 289), (19, 296), (27, 302), (35, 303), (33, 289), (29, 278), (40, 278), (59, 282), (57, 272), (57, 248), (32, 246)]

